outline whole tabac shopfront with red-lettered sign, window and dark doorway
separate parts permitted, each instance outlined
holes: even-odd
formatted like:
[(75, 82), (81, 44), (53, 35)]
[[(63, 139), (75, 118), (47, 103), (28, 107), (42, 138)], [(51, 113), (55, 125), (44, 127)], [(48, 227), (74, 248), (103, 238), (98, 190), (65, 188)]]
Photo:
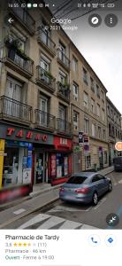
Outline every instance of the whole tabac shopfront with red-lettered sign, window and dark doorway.
[(51, 147), (52, 134), (0, 123), (0, 203), (27, 195), (34, 184), (48, 183), (45, 150)]

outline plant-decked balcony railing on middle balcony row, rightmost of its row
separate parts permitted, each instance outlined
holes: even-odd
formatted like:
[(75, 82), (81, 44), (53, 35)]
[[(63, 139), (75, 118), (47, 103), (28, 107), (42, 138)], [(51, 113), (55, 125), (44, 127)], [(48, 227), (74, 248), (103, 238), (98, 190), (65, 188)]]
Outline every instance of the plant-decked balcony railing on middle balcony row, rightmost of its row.
[(70, 101), (70, 85), (69, 84), (63, 84), (61, 82), (57, 82), (57, 94), (61, 98)]

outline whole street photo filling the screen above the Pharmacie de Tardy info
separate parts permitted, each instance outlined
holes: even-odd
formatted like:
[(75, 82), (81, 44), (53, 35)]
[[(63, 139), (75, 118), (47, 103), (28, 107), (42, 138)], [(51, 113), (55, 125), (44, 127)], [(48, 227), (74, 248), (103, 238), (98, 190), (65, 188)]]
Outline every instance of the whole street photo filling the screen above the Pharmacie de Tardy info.
[(0, 3), (0, 229), (122, 229), (121, 1)]

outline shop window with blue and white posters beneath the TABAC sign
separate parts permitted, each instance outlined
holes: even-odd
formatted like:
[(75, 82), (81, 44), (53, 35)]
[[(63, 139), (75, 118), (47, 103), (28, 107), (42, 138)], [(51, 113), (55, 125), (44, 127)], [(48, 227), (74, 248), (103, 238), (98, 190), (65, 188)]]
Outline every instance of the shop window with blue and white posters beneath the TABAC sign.
[[(14, 142), (13, 142), (14, 143)], [(32, 157), (28, 146), (5, 144), (3, 186), (31, 183)]]

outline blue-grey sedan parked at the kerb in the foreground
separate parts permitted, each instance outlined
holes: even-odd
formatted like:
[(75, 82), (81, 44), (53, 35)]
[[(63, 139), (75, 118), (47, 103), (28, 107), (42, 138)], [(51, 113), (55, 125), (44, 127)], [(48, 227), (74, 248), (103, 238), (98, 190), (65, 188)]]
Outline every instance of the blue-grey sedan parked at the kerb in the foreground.
[(65, 201), (97, 205), (105, 192), (111, 192), (111, 179), (96, 172), (80, 172), (69, 178), (59, 189), (59, 198)]

